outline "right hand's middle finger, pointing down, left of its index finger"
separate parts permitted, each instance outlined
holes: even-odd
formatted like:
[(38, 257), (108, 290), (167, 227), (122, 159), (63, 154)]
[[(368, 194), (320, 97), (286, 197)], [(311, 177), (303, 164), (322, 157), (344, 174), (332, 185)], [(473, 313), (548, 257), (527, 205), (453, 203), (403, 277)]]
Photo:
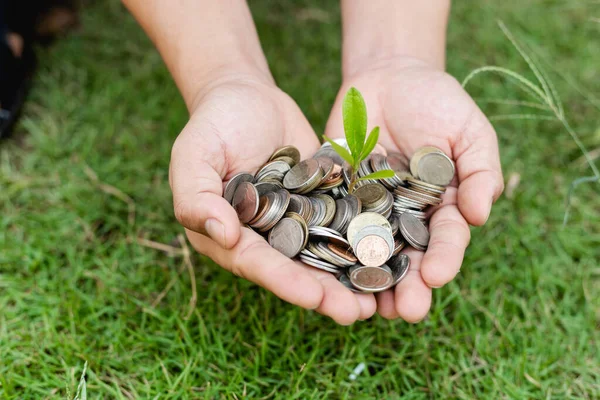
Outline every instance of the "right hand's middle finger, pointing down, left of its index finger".
[(419, 268), (423, 253), (414, 249), (404, 251), (410, 257), (410, 269), (406, 277), (396, 285), (396, 312), (406, 322), (421, 321), (431, 307), (431, 288), (425, 284)]

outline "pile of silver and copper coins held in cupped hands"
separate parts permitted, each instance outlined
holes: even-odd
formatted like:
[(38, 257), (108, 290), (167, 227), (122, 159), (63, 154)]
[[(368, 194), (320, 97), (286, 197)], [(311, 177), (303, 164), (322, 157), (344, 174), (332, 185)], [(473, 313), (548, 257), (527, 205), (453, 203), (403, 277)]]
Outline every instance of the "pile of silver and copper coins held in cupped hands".
[(373, 153), (356, 173), (364, 177), (385, 169), (395, 175), (357, 181), (349, 193), (352, 169), (330, 144), (306, 160), (285, 146), (256, 174), (233, 176), (223, 197), (240, 222), (282, 254), (335, 274), (354, 292), (376, 293), (408, 272), (410, 258), (400, 253), (407, 244), (427, 249), (427, 208), (442, 203), (455, 173), (452, 160), (431, 146), (410, 160), (400, 153)]

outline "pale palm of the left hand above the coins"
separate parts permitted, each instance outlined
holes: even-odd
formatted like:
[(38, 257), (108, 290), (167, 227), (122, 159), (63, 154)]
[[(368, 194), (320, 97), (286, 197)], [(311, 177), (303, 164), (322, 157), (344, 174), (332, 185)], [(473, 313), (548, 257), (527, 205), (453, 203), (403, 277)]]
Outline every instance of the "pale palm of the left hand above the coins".
[(238, 172), (256, 171), (278, 147), (293, 144), (303, 156), (319, 143), (304, 116), (279, 89), (248, 83), (228, 83), (207, 93), (176, 145), (203, 159), (218, 159), (214, 167), (222, 179)]

